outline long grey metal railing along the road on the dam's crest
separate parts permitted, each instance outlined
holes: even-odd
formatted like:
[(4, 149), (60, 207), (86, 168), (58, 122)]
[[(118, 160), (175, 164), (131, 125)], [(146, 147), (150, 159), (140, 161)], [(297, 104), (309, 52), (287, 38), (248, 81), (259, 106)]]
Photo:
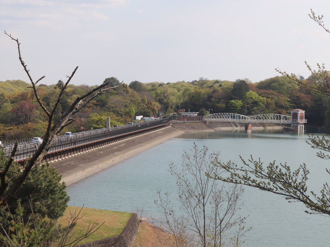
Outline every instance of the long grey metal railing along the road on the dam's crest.
[[(172, 117), (168, 117), (166, 119), (161, 119), (161, 120), (151, 120), (147, 122), (119, 125), (118, 127), (87, 130), (87, 131), (72, 133), (72, 136), (60, 135), (55, 139), (53, 145), (50, 147), (47, 154), (124, 135), (126, 133), (148, 129), (150, 127), (163, 125), (169, 123), (171, 120)], [(38, 148), (39, 144), (40, 143), (38, 142), (32, 142), (32, 141), (18, 143), (14, 160), (20, 161), (20, 160), (28, 159), (30, 156), (33, 155), (35, 150)], [(13, 151), (13, 147), (14, 147), (14, 143), (4, 146), (4, 151), (7, 157), (10, 156), (11, 152)]]

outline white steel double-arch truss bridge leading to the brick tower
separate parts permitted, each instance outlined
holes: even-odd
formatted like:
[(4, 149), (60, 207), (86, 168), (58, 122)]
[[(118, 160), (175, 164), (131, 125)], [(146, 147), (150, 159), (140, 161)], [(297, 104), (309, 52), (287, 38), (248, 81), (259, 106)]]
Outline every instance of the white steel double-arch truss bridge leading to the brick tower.
[[(245, 116), (236, 113), (214, 113), (206, 115), (204, 122), (228, 122), (228, 123), (292, 123), (291, 116), (281, 114), (259, 114)], [(307, 122), (303, 120), (301, 122)]]

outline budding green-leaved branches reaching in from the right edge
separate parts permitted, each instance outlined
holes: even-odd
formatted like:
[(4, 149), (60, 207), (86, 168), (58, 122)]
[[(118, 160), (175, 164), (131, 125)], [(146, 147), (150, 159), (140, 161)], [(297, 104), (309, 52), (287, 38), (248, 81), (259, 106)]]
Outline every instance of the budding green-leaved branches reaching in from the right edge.
[[(315, 16), (311, 10), (309, 15), (316, 23), (330, 33), (328, 29), (324, 27), (322, 18), (323, 16)], [(307, 63), (306, 63), (307, 64)], [(287, 74), (277, 70), (287, 78), (297, 82), (298, 85), (311, 89), (314, 93), (320, 93), (326, 96), (330, 96), (329, 82), (327, 79), (328, 71), (325, 70), (324, 65), (318, 65), (318, 71), (312, 70), (307, 65), (312, 75), (316, 78), (315, 83), (308, 85), (303, 78), (297, 77), (295, 74)], [(330, 139), (324, 135), (315, 136), (309, 135), (308, 144), (312, 148), (320, 150), (317, 152), (317, 156), (321, 159), (330, 159)], [(276, 164), (276, 161), (269, 163), (267, 166), (260, 159), (254, 159), (252, 156), (250, 159), (245, 160), (242, 157), (242, 163), (237, 164), (232, 161), (217, 162), (217, 166), (223, 168), (229, 172), (228, 176), (220, 176), (209, 174), (209, 176), (229, 182), (233, 184), (242, 184), (250, 187), (258, 188), (263, 191), (268, 191), (274, 194), (283, 196), (289, 202), (299, 201), (305, 204), (309, 214), (323, 214), (330, 216), (330, 187), (323, 184), (323, 189), (319, 194), (308, 190), (308, 176), (309, 170), (306, 168), (306, 164), (301, 164), (298, 169), (291, 170), (290, 166), (285, 164)], [(330, 171), (326, 169), (326, 173), (330, 175)]]

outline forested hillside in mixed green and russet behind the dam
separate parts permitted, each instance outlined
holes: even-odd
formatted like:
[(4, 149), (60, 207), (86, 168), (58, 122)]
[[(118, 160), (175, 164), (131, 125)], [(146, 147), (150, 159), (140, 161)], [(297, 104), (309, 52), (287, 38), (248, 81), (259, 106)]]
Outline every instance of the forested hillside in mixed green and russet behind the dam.
[[(303, 79), (303, 78), (300, 78)], [(115, 77), (106, 78), (111, 86), (119, 85)], [(303, 79), (312, 85), (313, 77)], [(101, 84), (102, 82), (100, 82)], [(47, 107), (51, 107), (63, 82), (38, 85), (38, 93)], [(77, 95), (92, 88), (87, 85), (68, 85), (62, 96), (57, 116), (60, 116)], [(78, 112), (75, 122), (63, 131), (73, 132), (104, 128), (106, 117), (111, 126), (131, 122), (134, 116), (150, 117), (160, 113), (169, 115), (185, 109), (201, 115), (232, 112), (244, 115), (278, 113), (290, 115), (290, 110), (306, 111), (308, 124), (330, 128), (330, 101), (321, 94), (298, 87), (285, 76), (276, 76), (257, 83), (248, 79), (235, 82), (199, 78), (192, 82), (142, 83), (133, 81), (108, 90)], [(0, 82), (0, 140), (42, 136), (46, 119), (36, 102), (29, 84), (21, 80)]]

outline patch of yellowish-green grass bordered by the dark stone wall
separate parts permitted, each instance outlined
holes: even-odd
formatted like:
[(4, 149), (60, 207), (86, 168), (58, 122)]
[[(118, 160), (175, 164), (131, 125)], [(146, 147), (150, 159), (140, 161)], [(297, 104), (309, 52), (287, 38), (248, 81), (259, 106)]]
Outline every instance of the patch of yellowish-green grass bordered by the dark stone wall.
[[(65, 215), (70, 216), (70, 211), (72, 212), (73, 209), (73, 206), (69, 206), (65, 211)], [(80, 209), (81, 207), (75, 207), (77, 213)], [(57, 220), (57, 224), (62, 226), (68, 225), (69, 219), (65, 215)], [(82, 235), (81, 232), (86, 232), (89, 224), (92, 225), (94, 222), (97, 222), (100, 225), (104, 222), (104, 224), (88, 238), (88, 241), (115, 236), (121, 232), (131, 215), (132, 213), (127, 212), (84, 207), (79, 215), (79, 217), (82, 218), (77, 221), (73, 233)], [(86, 240), (84, 242), (86, 242)]]

